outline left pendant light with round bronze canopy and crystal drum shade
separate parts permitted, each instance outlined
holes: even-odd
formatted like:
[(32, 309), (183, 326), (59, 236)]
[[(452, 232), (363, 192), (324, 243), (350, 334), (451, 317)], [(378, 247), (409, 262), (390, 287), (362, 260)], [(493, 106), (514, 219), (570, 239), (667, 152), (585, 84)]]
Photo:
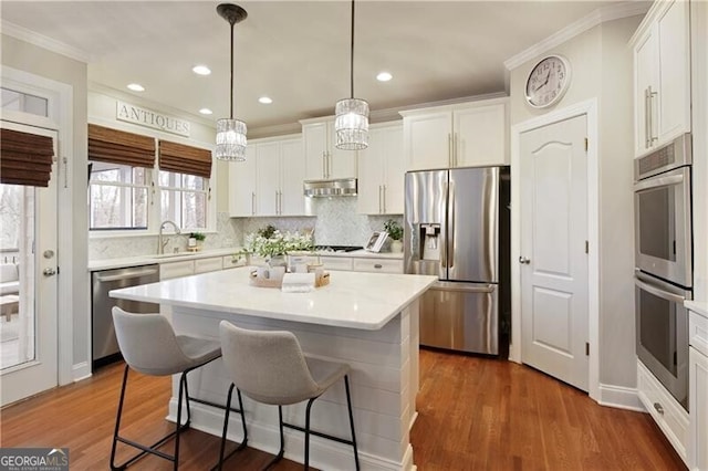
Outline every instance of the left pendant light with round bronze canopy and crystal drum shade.
[(246, 160), (246, 123), (233, 119), (233, 25), (246, 20), (248, 13), (238, 4), (221, 3), (217, 12), (231, 25), (231, 113), (229, 118), (217, 119), (216, 158), (229, 161)]

